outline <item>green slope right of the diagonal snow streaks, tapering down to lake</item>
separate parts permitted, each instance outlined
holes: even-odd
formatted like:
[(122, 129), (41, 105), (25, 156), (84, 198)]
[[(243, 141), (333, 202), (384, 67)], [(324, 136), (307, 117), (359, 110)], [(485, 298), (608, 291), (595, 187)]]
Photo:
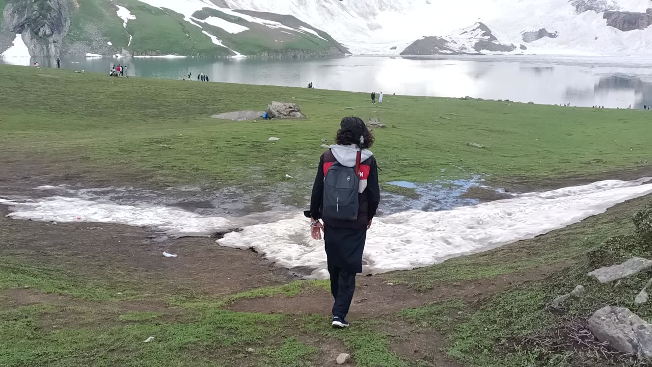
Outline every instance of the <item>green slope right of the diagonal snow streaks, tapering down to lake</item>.
[[(231, 23), (243, 25), (250, 30), (241, 33), (231, 34), (218, 27), (203, 25), (206, 29), (218, 39), (221, 39), (226, 46), (237, 50), (245, 55), (257, 55), (263, 52), (274, 54), (283, 50), (304, 50), (306, 52), (322, 52), (333, 46), (331, 42), (320, 39), (314, 35), (294, 32), (292, 35), (282, 33), (281, 31), (291, 32), (288, 29), (270, 29), (265, 25), (247, 22), (243, 18), (231, 16), (219, 10), (205, 8), (193, 14), (195, 18), (205, 19), (209, 16), (215, 16), (228, 20)], [(277, 42), (284, 40), (284, 42)]]

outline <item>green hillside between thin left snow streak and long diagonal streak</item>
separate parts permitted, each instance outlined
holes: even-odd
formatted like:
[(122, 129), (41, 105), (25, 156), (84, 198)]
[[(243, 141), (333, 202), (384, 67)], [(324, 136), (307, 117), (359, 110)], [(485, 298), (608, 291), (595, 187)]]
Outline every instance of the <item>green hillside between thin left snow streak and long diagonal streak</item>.
[(175, 54), (187, 56), (228, 56), (229, 50), (213, 44), (200, 27), (183, 20), (169, 9), (151, 7), (137, 0), (121, 0), (136, 20), (127, 23), (134, 36), (130, 50), (134, 55)]

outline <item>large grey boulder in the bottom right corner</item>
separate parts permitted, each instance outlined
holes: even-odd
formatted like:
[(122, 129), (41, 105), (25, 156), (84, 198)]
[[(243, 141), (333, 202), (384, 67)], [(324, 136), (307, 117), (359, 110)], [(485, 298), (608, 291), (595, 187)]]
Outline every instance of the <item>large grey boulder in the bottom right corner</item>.
[(652, 359), (652, 325), (627, 308), (600, 308), (589, 319), (589, 330), (619, 352)]

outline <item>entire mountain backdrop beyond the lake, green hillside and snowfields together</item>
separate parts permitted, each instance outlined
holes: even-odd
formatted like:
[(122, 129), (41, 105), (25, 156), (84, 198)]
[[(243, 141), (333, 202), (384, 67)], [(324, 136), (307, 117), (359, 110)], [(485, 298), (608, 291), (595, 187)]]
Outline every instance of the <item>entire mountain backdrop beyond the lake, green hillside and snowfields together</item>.
[(5, 2), (0, 54), (20, 39), (50, 56), (652, 52), (651, 0)]

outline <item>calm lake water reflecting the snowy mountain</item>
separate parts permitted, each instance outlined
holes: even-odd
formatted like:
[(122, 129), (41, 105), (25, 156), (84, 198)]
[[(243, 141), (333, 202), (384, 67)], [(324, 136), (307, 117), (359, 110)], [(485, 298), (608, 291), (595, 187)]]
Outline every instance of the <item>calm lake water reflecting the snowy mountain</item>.
[[(55, 67), (55, 59), (0, 63)], [(652, 104), (652, 61), (636, 57), (457, 56), (329, 59), (63, 59), (66, 69), (106, 72), (128, 65), (132, 76), (187, 78), (203, 72), (215, 82), (269, 84), (404, 95), (510, 99), (572, 106), (642, 108)]]

